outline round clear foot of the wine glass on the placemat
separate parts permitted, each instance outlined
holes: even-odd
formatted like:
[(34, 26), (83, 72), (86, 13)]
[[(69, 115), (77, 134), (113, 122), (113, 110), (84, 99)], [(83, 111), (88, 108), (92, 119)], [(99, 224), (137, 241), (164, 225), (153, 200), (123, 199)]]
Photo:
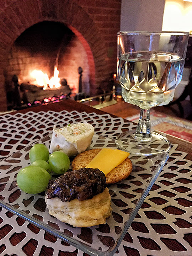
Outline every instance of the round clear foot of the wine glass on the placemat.
[[(116, 137), (116, 144), (119, 146), (119, 148), (126, 149), (124, 147), (123, 143), (128, 142), (131, 144), (141, 145), (141, 146), (145, 146), (148, 148), (165, 151), (166, 153), (169, 152), (169, 150), (171, 149), (171, 144), (170, 144), (169, 140), (159, 133), (151, 132), (151, 140), (148, 142), (144, 142), (144, 141), (141, 142), (139, 139), (135, 139), (134, 133), (135, 133), (135, 131), (128, 131), (128, 132), (123, 132), (123, 133), (119, 134)], [(139, 154), (139, 152), (138, 152), (138, 154)], [(143, 155), (143, 154), (140, 153), (140, 155)], [(148, 155), (150, 155), (150, 154), (148, 154)]]

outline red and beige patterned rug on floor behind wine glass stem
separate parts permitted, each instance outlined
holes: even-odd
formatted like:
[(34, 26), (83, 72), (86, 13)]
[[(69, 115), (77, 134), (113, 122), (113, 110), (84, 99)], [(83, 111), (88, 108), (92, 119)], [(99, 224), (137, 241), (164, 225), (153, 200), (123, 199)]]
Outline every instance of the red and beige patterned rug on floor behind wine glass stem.
[[(127, 117), (126, 119), (138, 123), (139, 114)], [(154, 110), (150, 112), (150, 121), (153, 130), (159, 130), (160, 132), (192, 142), (192, 121), (171, 117)]]

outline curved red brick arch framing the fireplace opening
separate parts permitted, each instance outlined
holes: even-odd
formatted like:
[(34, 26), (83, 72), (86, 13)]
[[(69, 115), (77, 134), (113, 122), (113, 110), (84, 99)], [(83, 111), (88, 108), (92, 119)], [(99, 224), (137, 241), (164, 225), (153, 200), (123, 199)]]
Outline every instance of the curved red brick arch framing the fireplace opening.
[[(90, 15), (73, 0), (15, 0), (0, 12), (0, 110), (6, 110), (4, 64), (6, 54), (18, 36), (28, 27), (41, 21), (57, 21), (68, 26), (83, 44), (90, 67), (90, 88), (94, 95), (106, 70), (107, 47), (100, 30)], [(109, 72), (108, 72), (109, 73)]]

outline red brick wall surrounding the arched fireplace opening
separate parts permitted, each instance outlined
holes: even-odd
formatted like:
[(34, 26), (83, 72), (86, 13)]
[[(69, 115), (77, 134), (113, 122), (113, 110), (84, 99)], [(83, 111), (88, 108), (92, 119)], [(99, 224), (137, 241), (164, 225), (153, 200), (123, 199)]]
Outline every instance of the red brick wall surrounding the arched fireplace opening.
[(23, 31), (38, 22), (63, 22), (79, 36), (90, 57), (93, 95), (116, 72), (121, 0), (1, 0), (0, 8), (1, 111), (7, 108), (3, 75), (7, 52)]

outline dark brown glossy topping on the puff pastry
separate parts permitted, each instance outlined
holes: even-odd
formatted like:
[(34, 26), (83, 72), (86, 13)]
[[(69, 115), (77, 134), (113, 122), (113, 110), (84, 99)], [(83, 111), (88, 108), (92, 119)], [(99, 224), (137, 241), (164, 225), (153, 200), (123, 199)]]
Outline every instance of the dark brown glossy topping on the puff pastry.
[(47, 187), (47, 199), (58, 197), (61, 201), (79, 201), (90, 199), (102, 193), (106, 188), (105, 174), (99, 169), (81, 168), (65, 172), (56, 180), (50, 180)]

